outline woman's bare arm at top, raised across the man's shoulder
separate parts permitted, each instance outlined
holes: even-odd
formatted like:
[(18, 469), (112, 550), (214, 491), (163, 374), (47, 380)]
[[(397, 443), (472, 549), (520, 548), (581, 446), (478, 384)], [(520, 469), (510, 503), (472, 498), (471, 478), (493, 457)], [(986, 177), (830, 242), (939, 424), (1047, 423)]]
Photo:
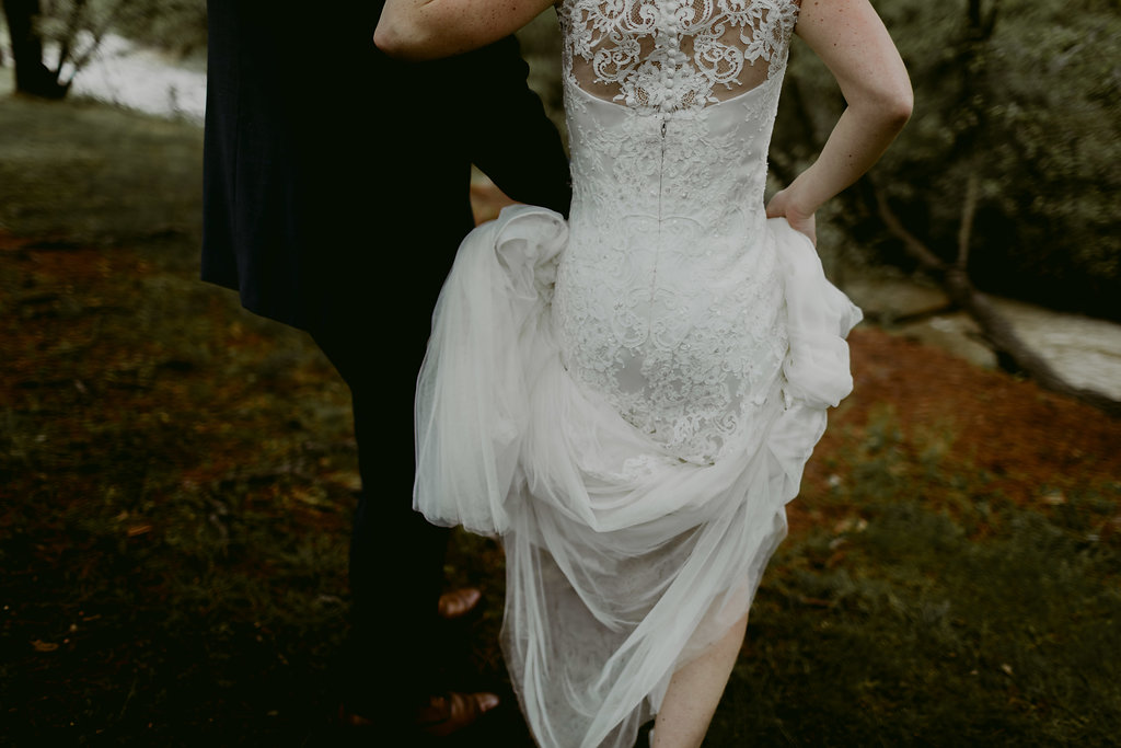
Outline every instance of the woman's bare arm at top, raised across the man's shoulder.
[(447, 57), (498, 41), (553, 0), (386, 0), (373, 41), (402, 59)]

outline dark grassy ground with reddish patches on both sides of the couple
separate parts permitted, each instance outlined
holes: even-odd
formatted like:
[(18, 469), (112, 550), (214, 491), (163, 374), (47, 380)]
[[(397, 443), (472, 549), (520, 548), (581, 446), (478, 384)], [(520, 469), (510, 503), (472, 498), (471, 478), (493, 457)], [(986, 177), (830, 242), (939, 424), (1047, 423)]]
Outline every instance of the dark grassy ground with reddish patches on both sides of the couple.
[[(0, 132), (0, 745), (334, 745), (345, 388), (196, 280), (197, 129), (3, 99)], [(706, 745), (1117, 745), (1121, 423), (851, 342)], [(456, 536), (500, 690), (501, 565)]]

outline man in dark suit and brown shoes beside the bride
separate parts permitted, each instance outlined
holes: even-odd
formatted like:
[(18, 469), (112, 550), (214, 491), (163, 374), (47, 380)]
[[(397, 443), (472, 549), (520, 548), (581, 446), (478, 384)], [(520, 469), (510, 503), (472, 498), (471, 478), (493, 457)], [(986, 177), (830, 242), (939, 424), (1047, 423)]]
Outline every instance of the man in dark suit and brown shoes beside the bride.
[(380, 10), (207, 3), (202, 277), (308, 331), (351, 388), (362, 493), (346, 713), (379, 736), (451, 732), (488, 703), (434, 682), (447, 530), (411, 509), (416, 376), (473, 225), (471, 164), (563, 213), (568, 166), (517, 41), (399, 63), (373, 45)]

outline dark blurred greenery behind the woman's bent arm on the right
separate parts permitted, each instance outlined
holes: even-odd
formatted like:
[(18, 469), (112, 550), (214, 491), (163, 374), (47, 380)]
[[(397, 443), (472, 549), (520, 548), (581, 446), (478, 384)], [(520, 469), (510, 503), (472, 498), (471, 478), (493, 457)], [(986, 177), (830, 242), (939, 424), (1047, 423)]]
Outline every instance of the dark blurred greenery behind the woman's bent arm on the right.
[[(965, 185), (979, 185), (970, 273), (982, 289), (1121, 318), (1121, 15), (1111, 0), (881, 0), (915, 114), (873, 172), (908, 229), (956, 255)], [(1111, 52), (1112, 50), (1112, 52)], [(844, 101), (796, 44), (772, 161), (787, 178)], [(876, 259), (907, 266), (867, 191), (839, 215)]]

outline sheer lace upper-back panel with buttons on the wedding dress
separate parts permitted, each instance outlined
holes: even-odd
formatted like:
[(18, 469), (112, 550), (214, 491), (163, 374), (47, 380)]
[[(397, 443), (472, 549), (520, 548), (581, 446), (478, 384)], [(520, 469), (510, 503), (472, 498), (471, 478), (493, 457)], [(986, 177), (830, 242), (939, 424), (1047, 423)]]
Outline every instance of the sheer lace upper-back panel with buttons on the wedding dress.
[(697, 109), (766, 82), (797, 13), (789, 0), (563, 0), (565, 75), (628, 107)]

